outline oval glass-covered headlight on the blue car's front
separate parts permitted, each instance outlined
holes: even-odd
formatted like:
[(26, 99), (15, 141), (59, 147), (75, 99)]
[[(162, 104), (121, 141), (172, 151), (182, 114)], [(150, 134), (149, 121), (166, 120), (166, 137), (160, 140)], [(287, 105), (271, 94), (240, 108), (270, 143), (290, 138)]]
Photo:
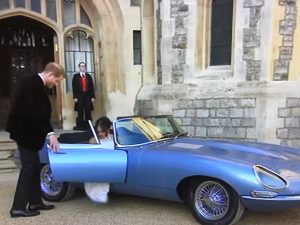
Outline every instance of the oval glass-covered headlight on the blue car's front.
[(288, 185), (284, 178), (264, 166), (255, 165), (254, 173), (258, 181), (268, 189), (278, 190), (286, 188)]

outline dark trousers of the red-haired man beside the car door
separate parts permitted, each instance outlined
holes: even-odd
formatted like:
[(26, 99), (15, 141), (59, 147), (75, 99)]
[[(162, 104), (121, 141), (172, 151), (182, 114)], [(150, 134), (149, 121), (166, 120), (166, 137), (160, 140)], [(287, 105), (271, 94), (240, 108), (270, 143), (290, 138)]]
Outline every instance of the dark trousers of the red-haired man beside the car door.
[(40, 189), (40, 158), (37, 150), (18, 145), (22, 167), (12, 209), (25, 210), (27, 203), (42, 203)]

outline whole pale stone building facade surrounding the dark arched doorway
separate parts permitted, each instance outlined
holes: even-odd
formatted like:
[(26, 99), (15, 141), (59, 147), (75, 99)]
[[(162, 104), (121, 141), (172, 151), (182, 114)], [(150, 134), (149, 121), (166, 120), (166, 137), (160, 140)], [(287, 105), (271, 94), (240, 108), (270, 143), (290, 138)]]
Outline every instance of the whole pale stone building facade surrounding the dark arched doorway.
[[(0, 26), (22, 17), (48, 27), (53, 60), (68, 68), (82, 57), (72, 42), (75, 34), (88, 40), (84, 59), (96, 86), (93, 118), (172, 114), (198, 137), (300, 147), (299, 5), (300, 0), (3, 0)], [(76, 118), (70, 90), (75, 70), (52, 99), (64, 129)], [(2, 86), (4, 75), (0, 69)], [(9, 99), (0, 93), (3, 109)]]

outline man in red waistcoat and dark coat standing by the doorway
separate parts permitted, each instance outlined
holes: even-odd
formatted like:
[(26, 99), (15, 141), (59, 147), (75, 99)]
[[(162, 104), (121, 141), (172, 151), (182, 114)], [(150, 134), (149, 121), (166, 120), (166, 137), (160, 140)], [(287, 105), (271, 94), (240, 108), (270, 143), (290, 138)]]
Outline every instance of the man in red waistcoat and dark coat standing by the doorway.
[(80, 62), (78, 68), (79, 73), (74, 74), (72, 80), (74, 110), (78, 112), (74, 129), (85, 130), (88, 128), (88, 120), (92, 120), (91, 111), (94, 109), (95, 91), (93, 79), (86, 72), (86, 63)]

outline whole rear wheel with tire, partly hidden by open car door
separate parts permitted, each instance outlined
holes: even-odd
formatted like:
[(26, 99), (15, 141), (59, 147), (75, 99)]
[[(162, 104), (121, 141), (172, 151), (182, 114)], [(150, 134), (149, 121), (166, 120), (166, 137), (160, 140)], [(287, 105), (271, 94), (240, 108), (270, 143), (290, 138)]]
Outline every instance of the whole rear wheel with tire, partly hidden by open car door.
[(67, 201), (75, 194), (76, 187), (73, 184), (55, 181), (49, 164), (41, 166), (40, 178), (42, 198), (47, 201)]

